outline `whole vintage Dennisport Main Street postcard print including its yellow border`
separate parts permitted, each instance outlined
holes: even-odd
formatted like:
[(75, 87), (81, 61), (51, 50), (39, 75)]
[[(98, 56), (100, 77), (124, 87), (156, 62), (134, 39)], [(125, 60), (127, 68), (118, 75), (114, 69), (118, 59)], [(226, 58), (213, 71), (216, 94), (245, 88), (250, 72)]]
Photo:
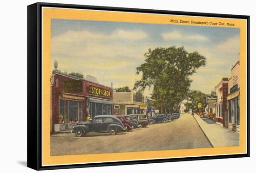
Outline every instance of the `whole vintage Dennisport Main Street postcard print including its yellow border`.
[(246, 152), (246, 20), (42, 12), (45, 165)]

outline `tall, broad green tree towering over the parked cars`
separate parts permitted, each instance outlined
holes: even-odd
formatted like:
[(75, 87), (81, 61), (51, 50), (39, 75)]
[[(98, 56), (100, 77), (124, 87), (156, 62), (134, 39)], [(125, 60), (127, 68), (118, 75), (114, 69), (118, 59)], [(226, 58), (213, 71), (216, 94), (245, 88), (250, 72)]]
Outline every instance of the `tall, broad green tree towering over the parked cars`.
[(206, 64), (206, 58), (197, 51), (189, 53), (175, 46), (148, 49), (144, 56), (145, 63), (136, 68), (136, 74), (142, 73), (142, 77), (135, 82), (134, 90), (153, 87), (156, 108), (162, 113), (179, 111), (192, 82), (189, 76)]

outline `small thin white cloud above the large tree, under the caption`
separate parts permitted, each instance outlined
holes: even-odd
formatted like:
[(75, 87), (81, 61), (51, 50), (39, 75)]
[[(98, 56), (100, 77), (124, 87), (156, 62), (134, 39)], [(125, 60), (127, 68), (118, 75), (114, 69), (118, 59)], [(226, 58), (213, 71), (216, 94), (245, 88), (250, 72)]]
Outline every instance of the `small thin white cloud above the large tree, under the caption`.
[(209, 41), (209, 38), (200, 34), (185, 34), (177, 31), (164, 32), (162, 37), (165, 40), (183, 40), (183, 41)]

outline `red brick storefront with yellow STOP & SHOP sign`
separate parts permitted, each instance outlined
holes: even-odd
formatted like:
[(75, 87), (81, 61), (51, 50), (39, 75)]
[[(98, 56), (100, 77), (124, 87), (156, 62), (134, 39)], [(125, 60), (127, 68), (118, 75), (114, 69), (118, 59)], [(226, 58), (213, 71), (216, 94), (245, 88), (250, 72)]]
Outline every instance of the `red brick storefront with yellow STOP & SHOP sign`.
[(88, 115), (113, 115), (113, 89), (58, 70), (51, 78), (52, 131), (69, 129)]

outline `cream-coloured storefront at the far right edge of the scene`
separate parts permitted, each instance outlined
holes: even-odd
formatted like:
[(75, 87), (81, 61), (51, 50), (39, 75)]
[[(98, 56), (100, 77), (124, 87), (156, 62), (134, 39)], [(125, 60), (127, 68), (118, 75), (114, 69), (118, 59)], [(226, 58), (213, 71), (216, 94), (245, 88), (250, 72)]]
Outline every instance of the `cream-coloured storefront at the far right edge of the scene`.
[(228, 90), (228, 114), (229, 114), (229, 129), (240, 132), (240, 62), (239, 59), (231, 69), (231, 77), (229, 78)]

